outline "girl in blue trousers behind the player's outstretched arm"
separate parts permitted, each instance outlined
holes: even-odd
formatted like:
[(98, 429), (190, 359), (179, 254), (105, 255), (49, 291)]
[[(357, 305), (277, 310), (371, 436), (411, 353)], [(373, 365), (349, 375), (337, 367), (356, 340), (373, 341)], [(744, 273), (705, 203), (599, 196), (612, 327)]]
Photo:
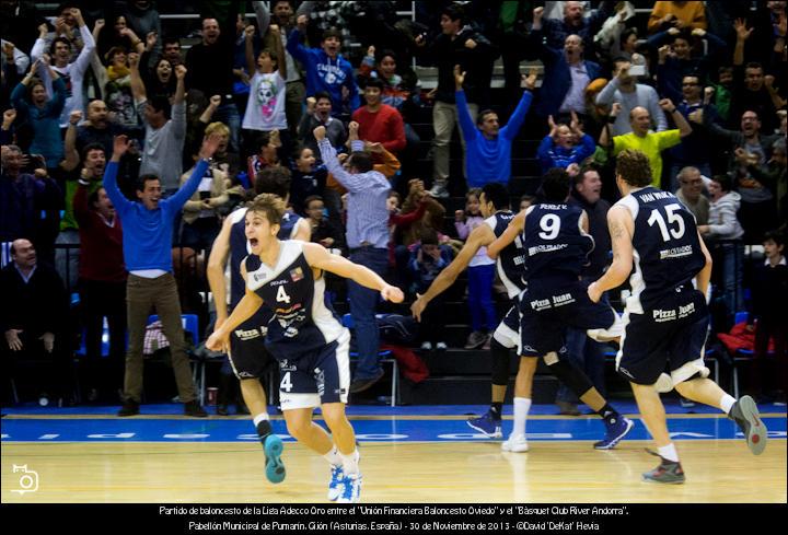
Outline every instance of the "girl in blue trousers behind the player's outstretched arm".
[[(454, 212), (454, 226), (460, 240), (467, 240), (474, 229), (485, 224), (479, 211), (480, 195), (482, 189), (472, 188), (465, 195), (465, 211)], [(480, 347), (488, 349), (493, 332), (498, 326), (493, 304), (495, 264), (495, 260), (487, 256), (487, 247), (479, 247), (468, 264), (468, 309), (472, 332), (465, 342), (465, 349)]]

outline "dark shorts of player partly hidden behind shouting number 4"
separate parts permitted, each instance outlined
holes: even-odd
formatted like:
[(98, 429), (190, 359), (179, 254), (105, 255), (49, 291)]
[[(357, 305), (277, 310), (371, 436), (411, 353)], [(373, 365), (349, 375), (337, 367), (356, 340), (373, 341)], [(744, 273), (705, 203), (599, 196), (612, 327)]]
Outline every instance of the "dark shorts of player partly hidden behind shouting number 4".
[[(260, 309), (262, 311), (262, 309)], [(230, 334), (230, 365), (237, 379), (259, 379), (274, 365), (265, 347), (269, 315), (256, 312)]]

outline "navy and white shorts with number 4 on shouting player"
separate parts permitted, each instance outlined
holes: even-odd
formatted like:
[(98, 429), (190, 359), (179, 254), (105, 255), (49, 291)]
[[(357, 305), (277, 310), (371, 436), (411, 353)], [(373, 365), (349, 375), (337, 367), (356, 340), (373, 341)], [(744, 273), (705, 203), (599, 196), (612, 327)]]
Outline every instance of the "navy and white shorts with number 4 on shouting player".
[(318, 349), (279, 360), (282, 410), (347, 404), (350, 388), (350, 332)]

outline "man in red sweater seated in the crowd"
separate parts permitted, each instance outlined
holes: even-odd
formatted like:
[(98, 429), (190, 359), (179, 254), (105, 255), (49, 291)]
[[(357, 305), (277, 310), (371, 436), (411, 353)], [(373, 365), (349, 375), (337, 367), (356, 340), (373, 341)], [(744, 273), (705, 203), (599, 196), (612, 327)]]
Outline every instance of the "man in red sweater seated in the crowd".
[(360, 139), (380, 142), (385, 150), (396, 153), (405, 149), (405, 127), (399, 112), (381, 102), (382, 93), (381, 80), (373, 78), (367, 82), (367, 105), (354, 112), (352, 120), (359, 124)]

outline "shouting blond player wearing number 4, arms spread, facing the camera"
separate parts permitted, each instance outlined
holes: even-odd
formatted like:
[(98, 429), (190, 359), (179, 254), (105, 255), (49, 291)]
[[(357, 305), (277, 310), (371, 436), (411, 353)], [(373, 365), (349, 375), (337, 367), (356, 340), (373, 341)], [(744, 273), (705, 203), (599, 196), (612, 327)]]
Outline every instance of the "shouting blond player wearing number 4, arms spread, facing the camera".
[[(252, 253), (242, 264), (246, 293), (230, 317), (206, 341), (225, 349), (233, 329), (265, 306), (273, 312), (266, 348), (279, 362), (280, 400), (289, 433), (323, 455), (332, 467), (329, 499), (356, 502), (361, 488), (356, 435), (345, 415), (350, 384), (350, 333), (325, 305), (323, 271), (346, 277), (402, 302), (403, 293), (370, 269), (323, 246), (279, 241), (281, 199), (258, 196), (246, 212), (246, 237)], [(320, 406), (332, 431), (312, 421)]]

